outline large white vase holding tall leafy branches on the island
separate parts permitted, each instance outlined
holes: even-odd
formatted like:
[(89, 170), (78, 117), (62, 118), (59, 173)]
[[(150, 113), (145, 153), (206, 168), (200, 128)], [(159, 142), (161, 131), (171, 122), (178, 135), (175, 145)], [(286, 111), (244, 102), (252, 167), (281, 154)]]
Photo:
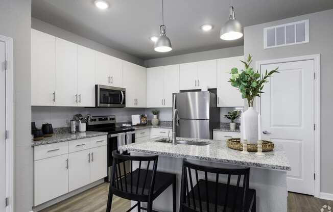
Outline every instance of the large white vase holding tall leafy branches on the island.
[(258, 112), (249, 107), (241, 117), (242, 129), (241, 135), (242, 140), (244, 139), (244, 131), (246, 135), (247, 142), (249, 144), (256, 144), (258, 141)]

